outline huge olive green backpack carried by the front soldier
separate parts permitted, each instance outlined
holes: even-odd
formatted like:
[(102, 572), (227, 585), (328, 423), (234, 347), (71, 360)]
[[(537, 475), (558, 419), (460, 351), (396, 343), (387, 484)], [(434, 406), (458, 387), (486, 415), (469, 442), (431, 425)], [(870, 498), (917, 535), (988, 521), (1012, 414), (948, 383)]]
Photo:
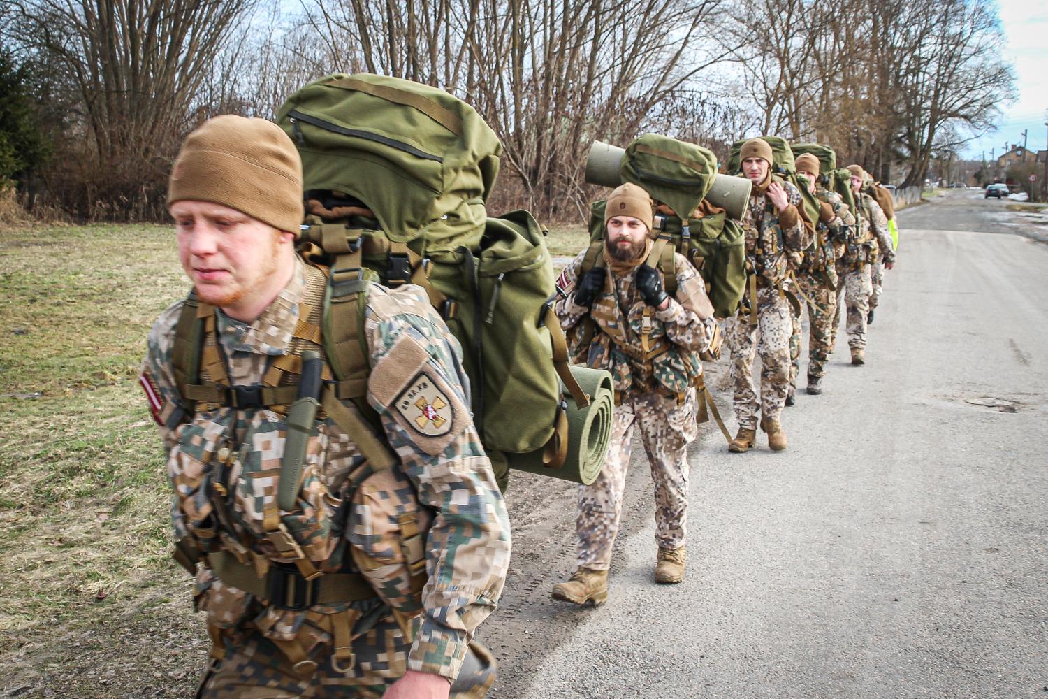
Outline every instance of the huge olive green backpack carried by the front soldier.
[(278, 123), (302, 156), (300, 242), (331, 269), (325, 349), (336, 377), (367, 377), (348, 337), (363, 336), (340, 335), (358, 322), (363, 280), (419, 284), (462, 346), (474, 420), (500, 479), (511, 455), (541, 452), (560, 468), (563, 394), (572, 410), (589, 396), (567, 364), (545, 232), (527, 212), (486, 215), (502, 152), (490, 127), (443, 90), (369, 73), (310, 83)]

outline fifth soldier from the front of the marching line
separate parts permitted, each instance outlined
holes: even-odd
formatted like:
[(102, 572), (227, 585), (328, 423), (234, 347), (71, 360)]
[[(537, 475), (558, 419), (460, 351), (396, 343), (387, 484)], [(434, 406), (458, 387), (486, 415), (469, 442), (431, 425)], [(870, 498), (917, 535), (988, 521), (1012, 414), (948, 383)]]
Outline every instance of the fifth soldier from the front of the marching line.
[(880, 249), (885, 257), (885, 268), (895, 265), (895, 252), (888, 235), (888, 220), (885, 213), (869, 194), (861, 193), (863, 182), (869, 178), (860, 166), (850, 165), (852, 191), (855, 193), (855, 203), (858, 206), (857, 235), (845, 246), (845, 254), (837, 261), (837, 276), (844, 281), (837, 285), (837, 308), (833, 312), (833, 333), (836, 341), (837, 327), (840, 324), (840, 297), (844, 296), (848, 307), (847, 329), (848, 346), (851, 348), (851, 363), (857, 367), (866, 364), (866, 326), (870, 313), (870, 297), (873, 294), (873, 282), (870, 263)]

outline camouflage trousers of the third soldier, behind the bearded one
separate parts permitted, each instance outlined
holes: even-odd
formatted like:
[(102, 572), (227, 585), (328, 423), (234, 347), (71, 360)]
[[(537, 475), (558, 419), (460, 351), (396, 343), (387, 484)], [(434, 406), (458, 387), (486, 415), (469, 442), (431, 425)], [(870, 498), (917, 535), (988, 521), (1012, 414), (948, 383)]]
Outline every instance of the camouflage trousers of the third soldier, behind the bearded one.
[[(729, 375), (735, 389), (735, 416), (740, 428), (756, 430), (758, 412), (765, 420), (778, 420), (789, 389), (793, 310), (776, 288), (757, 290), (757, 325), (740, 309), (725, 324), (725, 340), (732, 351)], [(761, 357), (761, 397), (754, 387), (754, 356)]]

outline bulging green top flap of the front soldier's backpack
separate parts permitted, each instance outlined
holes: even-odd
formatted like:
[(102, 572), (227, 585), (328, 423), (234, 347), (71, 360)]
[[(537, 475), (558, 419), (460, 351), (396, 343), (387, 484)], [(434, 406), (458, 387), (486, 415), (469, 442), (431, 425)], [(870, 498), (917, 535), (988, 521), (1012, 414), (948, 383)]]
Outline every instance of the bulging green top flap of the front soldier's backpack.
[(427, 250), (474, 245), (502, 145), (473, 107), (428, 85), (334, 73), (306, 85), (278, 123), (302, 156), (306, 191), (333, 190), (375, 213), (391, 240)]

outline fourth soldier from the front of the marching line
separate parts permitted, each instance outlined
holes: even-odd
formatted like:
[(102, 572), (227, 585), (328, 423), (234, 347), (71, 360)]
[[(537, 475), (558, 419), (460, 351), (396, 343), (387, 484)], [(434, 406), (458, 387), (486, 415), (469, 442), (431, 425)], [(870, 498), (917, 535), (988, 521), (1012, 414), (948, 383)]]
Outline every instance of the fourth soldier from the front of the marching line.
[[(826, 359), (833, 341), (833, 316), (837, 308), (838, 283), (836, 261), (844, 255), (848, 226), (855, 225), (855, 216), (839, 194), (830, 192), (818, 184), (818, 158), (805, 153), (796, 158), (796, 174), (804, 178), (820, 202), (818, 223), (815, 240), (805, 250), (804, 259), (796, 270), (796, 282), (801, 297), (808, 306), (808, 387), (807, 392), (818, 395), (823, 392), (823, 376), (826, 375)], [(794, 328), (796, 344), (801, 336)], [(791, 373), (793, 380), (796, 374)], [(795, 385), (795, 384), (794, 384)]]

